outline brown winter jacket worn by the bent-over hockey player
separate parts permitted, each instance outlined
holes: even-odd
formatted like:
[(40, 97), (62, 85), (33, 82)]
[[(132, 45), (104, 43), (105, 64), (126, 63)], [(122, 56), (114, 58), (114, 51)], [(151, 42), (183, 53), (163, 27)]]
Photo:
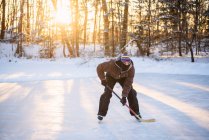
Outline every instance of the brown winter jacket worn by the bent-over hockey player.
[(127, 97), (128, 93), (130, 92), (132, 88), (133, 78), (135, 74), (135, 69), (134, 69), (133, 64), (131, 63), (128, 70), (122, 71), (122, 69), (116, 64), (116, 60), (103, 62), (97, 66), (97, 74), (100, 80), (105, 79), (105, 73), (108, 73), (114, 79), (125, 78), (122, 96)]

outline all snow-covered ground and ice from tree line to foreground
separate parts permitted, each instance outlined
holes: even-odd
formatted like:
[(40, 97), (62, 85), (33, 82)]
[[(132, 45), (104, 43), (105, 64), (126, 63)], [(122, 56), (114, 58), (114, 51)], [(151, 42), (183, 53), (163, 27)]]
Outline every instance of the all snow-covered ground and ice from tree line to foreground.
[[(2, 45), (0, 45), (1, 47)], [(1, 140), (207, 140), (209, 138), (208, 58), (132, 57), (133, 87), (143, 118), (139, 123), (113, 95), (107, 116), (96, 114), (103, 87), (96, 66), (111, 58), (32, 59), (0, 48)], [(6, 46), (6, 47), (5, 47)], [(29, 48), (27, 48), (29, 49)], [(14, 52), (14, 50), (13, 50)], [(31, 50), (28, 50), (31, 53)], [(114, 91), (121, 95), (116, 84)]]

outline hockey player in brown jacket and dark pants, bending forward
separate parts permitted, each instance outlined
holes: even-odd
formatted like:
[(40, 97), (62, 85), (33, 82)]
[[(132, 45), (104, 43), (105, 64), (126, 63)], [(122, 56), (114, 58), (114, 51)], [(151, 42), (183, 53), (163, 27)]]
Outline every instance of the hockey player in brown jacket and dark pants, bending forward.
[[(99, 101), (98, 119), (102, 120), (107, 114), (110, 98), (112, 97), (112, 91), (109, 88), (113, 89), (116, 82), (123, 88), (121, 103), (125, 105), (126, 99), (128, 99), (130, 108), (141, 118), (137, 93), (132, 87), (135, 74), (133, 61), (127, 55), (121, 55), (117, 59), (99, 64), (97, 74), (101, 84), (105, 86), (104, 93)], [(131, 112), (130, 114), (134, 115)], [(136, 119), (138, 118), (136, 117)]]

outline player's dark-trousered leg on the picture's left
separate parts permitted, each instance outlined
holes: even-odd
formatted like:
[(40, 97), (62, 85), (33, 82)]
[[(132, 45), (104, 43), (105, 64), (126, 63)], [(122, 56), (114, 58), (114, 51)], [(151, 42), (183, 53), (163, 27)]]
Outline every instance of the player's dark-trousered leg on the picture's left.
[[(110, 76), (107, 76), (106, 79), (107, 79), (107, 86), (113, 89), (116, 80)], [(111, 97), (112, 97), (112, 91), (109, 90), (107, 87), (105, 87), (104, 93), (100, 97), (99, 111), (97, 115), (106, 116)]]

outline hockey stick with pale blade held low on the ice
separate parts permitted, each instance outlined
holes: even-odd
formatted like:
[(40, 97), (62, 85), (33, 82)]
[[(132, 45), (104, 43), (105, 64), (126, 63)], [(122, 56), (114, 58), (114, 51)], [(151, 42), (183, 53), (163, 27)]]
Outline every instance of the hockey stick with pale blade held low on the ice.
[[(113, 92), (113, 94), (115, 94), (115, 96), (118, 98), (118, 99), (120, 99), (120, 101), (121, 101), (121, 97), (120, 96), (118, 96), (118, 94), (112, 89), (112, 88), (110, 88), (109, 86), (106, 86), (109, 90), (111, 90), (112, 92)], [(131, 109), (130, 107), (129, 107), (129, 105), (126, 103), (125, 104), (125, 106), (131, 111), (131, 113), (133, 113), (134, 114), (134, 116), (140, 121), (140, 122), (155, 122), (155, 119), (142, 119), (142, 118), (140, 118), (137, 114), (136, 114), (136, 112), (134, 112), (133, 111), (133, 109)]]

